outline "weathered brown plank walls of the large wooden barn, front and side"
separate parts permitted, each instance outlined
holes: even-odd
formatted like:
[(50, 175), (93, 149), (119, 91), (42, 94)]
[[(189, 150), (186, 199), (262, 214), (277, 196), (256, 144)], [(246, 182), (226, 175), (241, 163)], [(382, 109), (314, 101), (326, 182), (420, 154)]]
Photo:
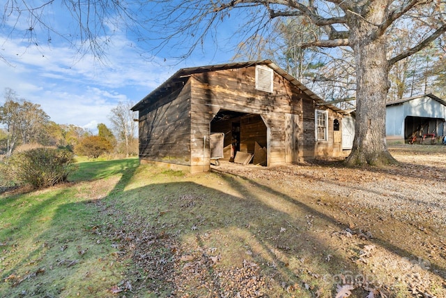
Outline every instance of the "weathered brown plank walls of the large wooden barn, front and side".
[(213, 123), (213, 132), (225, 133), (224, 145), (231, 144), (232, 123), (239, 121), (240, 144), (247, 151), (254, 151), (256, 142), (266, 147), (268, 165), (341, 151), (341, 137), (333, 132), (333, 119), (341, 116), (329, 110), (328, 141), (316, 142), (314, 100), (282, 75), (275, 73), (272, 93), (255, 89), (255, 66), (195, 73), (183, 83), (169, 94), (167, 85), (160, 90), (164, 95), (139, 110), (141, 161), (209, 170), (210, 126), (220, 110), (245, 114)]

